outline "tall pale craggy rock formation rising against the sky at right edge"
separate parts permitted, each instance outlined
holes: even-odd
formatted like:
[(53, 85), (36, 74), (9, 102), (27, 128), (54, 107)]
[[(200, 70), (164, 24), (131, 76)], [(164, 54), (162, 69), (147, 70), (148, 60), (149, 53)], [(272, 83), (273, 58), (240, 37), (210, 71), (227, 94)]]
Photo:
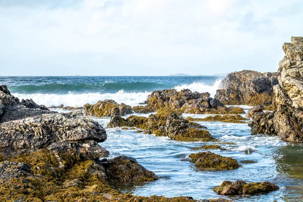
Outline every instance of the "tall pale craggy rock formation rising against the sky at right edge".
[(279, 83), (274, 86), (277, 110), (254, 115), (249, 126), (256, 134), (303, 142), (303, 40), (291, 37), (291, 41), (282, 46), (286, 56), (279, 63)]

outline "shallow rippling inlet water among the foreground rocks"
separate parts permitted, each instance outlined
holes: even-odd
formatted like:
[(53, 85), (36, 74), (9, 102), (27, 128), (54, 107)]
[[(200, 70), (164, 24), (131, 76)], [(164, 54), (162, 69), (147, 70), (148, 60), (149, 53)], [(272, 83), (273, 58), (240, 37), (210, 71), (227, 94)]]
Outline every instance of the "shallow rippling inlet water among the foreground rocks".
[[(245, 107), (244, 107), (245, 108)], [(245, 111), (248, 108), (246, 107)], [(148, 115), (144, 115), (148, 116)], [(205, 117), (208, 115), (189, 115), (184, 117)], [(109, 118), (93, 118), (104, 127)], [(134, 195), (192, 196), (201, 198), (229, 198), (236, 201), (301, 201), (303, 199), (302, 144), (286, 143), (278, 137), (251, 135), (247, 124), (221, 122), (198, 122), (209, 128), (211, 134), (227, 150), (212, 152), (232, 157), (238, 162), (254, 160), (254, 164), (241, 164), (242, 167), (230, 171), (196, 172), (188, 161), (188, 155), (198, 151), (191, 147), (212, 142), (179, 142), (167, 137), (136, 133), (136, 130), (121, 128), (107, 129), (108, 139), (100, 143), (111, 153), (110, 158), (119, 155), (131, 156), (155, 172), (160, 179), (154, 182), (138, 183), (116, 187)], [(291, 156), (295, 154), (295, 157)], [(300, 179), (301, 178), (301, 179)], [(280, 186), (280, 190), (256, 195), (217, 195), (212, 188), (224, 180), (244, 180), (246, 182), (270, 181)]]

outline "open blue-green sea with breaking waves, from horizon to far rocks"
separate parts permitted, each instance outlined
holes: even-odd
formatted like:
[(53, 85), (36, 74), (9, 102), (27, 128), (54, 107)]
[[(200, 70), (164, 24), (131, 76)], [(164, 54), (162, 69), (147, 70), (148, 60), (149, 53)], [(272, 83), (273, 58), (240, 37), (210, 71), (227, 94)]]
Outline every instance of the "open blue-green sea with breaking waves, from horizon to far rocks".
[(32, 98), (47, 107), (61, 104), (81, 107), (98, 100), (114, 99), (136, 106), (154, 90), (189, 88), (215, 95), (222, 77), (216, 76), (22, 76), (0, 77), (11, 93)]

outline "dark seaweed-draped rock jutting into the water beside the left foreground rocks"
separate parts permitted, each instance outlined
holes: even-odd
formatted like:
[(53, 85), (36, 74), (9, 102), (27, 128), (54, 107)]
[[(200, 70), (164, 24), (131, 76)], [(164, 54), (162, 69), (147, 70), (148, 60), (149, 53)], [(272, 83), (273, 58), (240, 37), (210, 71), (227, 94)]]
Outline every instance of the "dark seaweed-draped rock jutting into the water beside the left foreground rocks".
[(155, 173), (148, 171), (131, 157), (116, 157), (103, 162), (102, 165), (110, 182), (133, 183), (158, 179)]

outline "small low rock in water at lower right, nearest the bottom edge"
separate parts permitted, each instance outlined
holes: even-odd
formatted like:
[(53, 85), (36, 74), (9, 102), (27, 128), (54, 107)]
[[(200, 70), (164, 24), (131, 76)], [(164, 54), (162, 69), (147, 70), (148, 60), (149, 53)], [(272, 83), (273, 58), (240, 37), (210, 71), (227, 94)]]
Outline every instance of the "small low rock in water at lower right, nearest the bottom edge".
[(213, 188), (213, 190), (222, 195), (266, 193), (279, 190), (279, 186), (268, 181), (246, 183), (242, 180), (239, 180), (235, 182), (224, 181), (219, 187)]

